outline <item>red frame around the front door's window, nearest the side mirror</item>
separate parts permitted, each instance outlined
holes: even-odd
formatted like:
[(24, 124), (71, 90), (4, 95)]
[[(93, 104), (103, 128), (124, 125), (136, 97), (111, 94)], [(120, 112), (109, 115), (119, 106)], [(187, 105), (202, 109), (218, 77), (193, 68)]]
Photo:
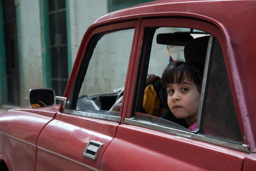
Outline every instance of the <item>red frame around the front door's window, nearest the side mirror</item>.
[[(83, 78), (75, 77), (73, 80), (74, 82), (70, 83), (72, 85), (72, 89), (68, 97), (70, 97), (71, 100), (70, 99), (68, 100), (69, 103), (67, 107), (63, 109), (63, 113), (72, 114), (72, 115), (81, 115), (84, 117), (92, 117), (95, 119), (101, 119), (105, 121), (113, 121), (116, 123), (120, 123), (122, 110), (124, 108), (124, 103), (122, 103), (122, 107), (119, 113), (110, 112), (109, 114), (102, 114), (102, 112), (100, 113), (101, 110), (99, 110), (99, 112), (97, 113), (78, 111), (78, 110), (72, 109), (72, 105), (74, 105), (74, 103), (76, 103), (77, 101), (79, 90), (81, 89), (81, 85), (83, 84), (83, 80), (86, 75), (88, 64), (90, 63), (90, 62), (88, 63), (88, 61), (90, 61), (90, 58), (92, 57), (93, 50), (95, 48), (95, 45), (97, 44), (97, 41), (99, 41), (100, 38), (104, 36), (104, 34), (108, 34), (115, 31), (121, 31), (124, 29), (134, 29), (134, 33), (132, 37), (131, 52), (129, 56), (129, 64), (128, 64), (127, 73), (125, 77), (125, 87), (127, 87), (127, 78), (129, 77), (129, 70), (131, 70), (129, 65), (131, 63), (132, 54), (134, 51), (134, 41), (136, 38), (136, 34), (138, 34), (138, 30), (139, 30), (138, 26), (139, 26), (138, 20), (129, 20), (129, 21), (117, 22), (117, 23), (108, 24), (108, 25), (102, 24), (102, 26), (89, 28), (88, 31), (86, 31), (86, 33), (84, 34), (83, 40), (81, 41), (79, 52), (77, 52), (77, 59), (76, 59), (77, 61), (80, 61), (79, 67), (77, 67), (77, 70), (76, 70), (76, 76), (81, 75), (84, 72)], [(125, 91), (126, 90), (124, 89), (124, 94), (125, 94)]]

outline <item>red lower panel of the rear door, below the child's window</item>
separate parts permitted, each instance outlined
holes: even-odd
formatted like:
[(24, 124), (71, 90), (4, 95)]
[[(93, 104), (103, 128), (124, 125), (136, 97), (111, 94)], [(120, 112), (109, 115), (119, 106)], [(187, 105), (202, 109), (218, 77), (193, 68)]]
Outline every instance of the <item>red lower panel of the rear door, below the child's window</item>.
[(100, 170), (241, 170), (247, 154), (225, 147), (123, 124)]

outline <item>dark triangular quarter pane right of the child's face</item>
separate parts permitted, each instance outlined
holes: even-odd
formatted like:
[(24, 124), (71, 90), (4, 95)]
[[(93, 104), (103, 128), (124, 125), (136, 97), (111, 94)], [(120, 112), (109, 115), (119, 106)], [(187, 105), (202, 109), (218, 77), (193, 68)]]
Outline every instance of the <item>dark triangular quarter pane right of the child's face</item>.
[(214, 39), (200, 133), (243, 142), (220, 43)]

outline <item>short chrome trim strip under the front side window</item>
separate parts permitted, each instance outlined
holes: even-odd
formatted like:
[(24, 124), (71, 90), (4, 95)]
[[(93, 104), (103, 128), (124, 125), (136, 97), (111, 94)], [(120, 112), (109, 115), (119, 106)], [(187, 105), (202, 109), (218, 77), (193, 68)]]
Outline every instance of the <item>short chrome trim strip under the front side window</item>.
[(102, 119), (106, 121), (113, 121), (116, 123), (120, 123), (121, 117), (119, 115), (119, 112), (109, 112), (106, 111), (106, 114), (97, 114), (97, 113), (92, 113), (92, 112), (82, 112), (82, 111), (77, 111), (77, 110), (69, 110), (69, 109), (64, 109), (64, 113), (67, 114), (72, 114), (72, 115), (81, 115), (85, 117), (92, 117), (96, 119)]

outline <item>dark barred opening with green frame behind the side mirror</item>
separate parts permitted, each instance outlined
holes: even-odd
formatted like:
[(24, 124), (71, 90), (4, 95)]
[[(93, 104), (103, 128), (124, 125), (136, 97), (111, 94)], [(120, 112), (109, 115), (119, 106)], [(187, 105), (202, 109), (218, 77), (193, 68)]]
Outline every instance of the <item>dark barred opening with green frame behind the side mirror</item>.
[(63, 96), (68, 82), (67, 26), (65, 0), (48, 1), (51, 85)]

